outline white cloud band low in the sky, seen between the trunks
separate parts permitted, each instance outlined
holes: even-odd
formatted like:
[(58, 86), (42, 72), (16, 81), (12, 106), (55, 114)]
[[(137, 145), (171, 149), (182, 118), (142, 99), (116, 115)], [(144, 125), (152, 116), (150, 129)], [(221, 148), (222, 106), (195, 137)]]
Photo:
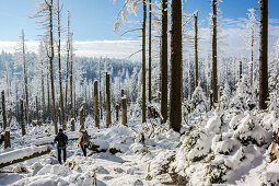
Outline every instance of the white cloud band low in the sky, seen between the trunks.
[[(279, 38), (279, 20), (272, 19), (269, 21), (269, 51)], [(219, 37), (221, 42), (219, 47), (223, 50), (224, 56), (244, 57), (247, 55), (245, 45), (245, 19), (223, 19), (220, 22), (221, 32)], [(189, 33), (194, 35), (193, 32)], [(211, 34), (209, 27), (199, 28), (199, 50), (201, 56), (206, 56), (211, 50)], [(65, 46), (65, 44), (62, 44)], [(14, 53), (18, 42), (0, 42), (0, 50)], [(38, 42), (26, 42), (27, 49), (37, 51)], [(141, 49), (141, 40), (94, 40), (94, 42), (79, 42), (73, 43), (77, 56), (86, 57), (109, 57), (109, 58), (127, 58), (131, 54)], [(159, 46), (158, 46), (159, 47)], [(19, 48), (19, 47), (18, 47)], [(156, 49), (158, 50), (158, 49)], [(194, 49), (187, 49), (194, 53)], [(141, 53), (132, 56), (131, 60), (141, 60)]]

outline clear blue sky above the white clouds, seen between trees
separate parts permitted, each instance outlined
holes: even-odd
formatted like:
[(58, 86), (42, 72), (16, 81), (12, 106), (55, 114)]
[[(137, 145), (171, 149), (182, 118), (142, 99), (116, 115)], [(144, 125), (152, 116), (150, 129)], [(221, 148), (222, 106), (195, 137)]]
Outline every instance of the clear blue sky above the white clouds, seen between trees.
[[(73, 31), (73, 39), (79, 42), (95, 42), (95, 40), (117, 40), (119, 33), (113, 33), (114, 23), (117, 14), (124, 4), (124, 0), (117, 0), (114, 4), (113, 0), (60, 0), (63, 2), (63, 10), (71, 11), (71, 27)], [(0, 0), (0, 42), (16, 42), (20, 39), (21, 30), (24, 28), (26, 39), (36, 40), (38, 30), (36, 20), (30, 19), (33, 15), (37, 0)], [(201, 27), (208, 27), (211, 0), (184, 0), (184, 10), (194, 12), (199, 10), (199, 21)], [(223, 27), (226, 28), (226, 21), (244, 21), (247, 18), (247, 9), (259, 8), (258, 0), (223, 0), (220, 4), (222, 19), (224, 20)], [(272, 32), (272, 40), (279, 36), (279, 0), (269, 0), (269, 19), (274, 19), (271, 23), (275, 27)], [(139, 7), (141, 10), (141, 5)], [(256, 11), (259, 13), (259, 11)], [(63, 14), (66, 21), (67, 14)], [(138, 16), (131, 15), (129, 22), (139, 22), (141, 13)], [(66, 26), (66, 24), (65, 24)], [(139, 27), (132, 24), (125, 27)], [(228, 26), (230, 27), (230, 26)], [(242, 27), (243, 28), (243, 27)], [(231, 31), (231, 30), (230, 30)], [(228, 30), (229, 32), (229, 30)], [(237, 31), (232, 31), (235, 33)], [(129, 39), (139, 39), (137, 37)], [(233, 39), (233, 38), (231, 38)], [(83, 43), (84, 44), (84, 43)], [(92, 43), (91, 43), (92, 44)], [(93, 44), (92, 44), (93, 45)], [(105, 48), (105, 46), (104, 46)], [(1, 45), (0, 45), (1, 49)], [(94, 48), (96, 49), (96, 48)], [(90, 49), (88, 49), (90, 50)], [(103, 51), (104, 54), (104, 51)]]

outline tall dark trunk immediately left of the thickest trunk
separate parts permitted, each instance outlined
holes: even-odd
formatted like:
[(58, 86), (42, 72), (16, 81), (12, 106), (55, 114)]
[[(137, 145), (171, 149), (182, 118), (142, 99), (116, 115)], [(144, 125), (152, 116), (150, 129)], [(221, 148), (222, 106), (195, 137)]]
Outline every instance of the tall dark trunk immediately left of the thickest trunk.
[(162, 123), (167, 119), (167, 0), (162, 0), (162, 38), (161, 38), (161, 114)]

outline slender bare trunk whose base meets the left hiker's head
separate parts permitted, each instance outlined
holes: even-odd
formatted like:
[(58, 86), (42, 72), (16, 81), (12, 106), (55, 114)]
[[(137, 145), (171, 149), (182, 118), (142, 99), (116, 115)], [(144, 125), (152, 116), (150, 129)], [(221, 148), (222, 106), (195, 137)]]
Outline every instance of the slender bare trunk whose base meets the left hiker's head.
[(59, 86), (60, 86), (60, 112), (61, 112), (61, 118), (60, 118), (60, 125), (62, 126), (62, 129), (66, 130), (66, 121), (65, 121), (65, 112), (63, 112), (63, 88), (62, 88), (62, 72), (61, 72), (61, 9), (59, 4), (60, 0), (57, 0), (57, 32), (58, 32), (58, 70), (59, 70)]

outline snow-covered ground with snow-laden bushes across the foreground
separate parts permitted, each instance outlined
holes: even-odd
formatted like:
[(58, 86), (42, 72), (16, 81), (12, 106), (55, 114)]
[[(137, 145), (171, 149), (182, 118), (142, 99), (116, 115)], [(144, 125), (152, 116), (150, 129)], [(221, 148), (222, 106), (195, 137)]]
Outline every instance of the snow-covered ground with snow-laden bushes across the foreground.
[(184, 109), (181, 133), (160, 119), (141, 124), (133, 116), (128, 127), (105, 128), (102, 123), (97, 129), (88, 117), (91, 143), (106, 152), (88, 150), (86, 158), (78, 147), (78, 131), (68, 126), (68, 159), (62, 165), (53, 146), (53, 126), (28, 127), (24, 137), (19, 127), (12, 127), (12, 148), (1, 147), (0, 163), (46, 148), (51, 151), (1, 168), (0, 185), (94, 185), (95, 181), (97, 185), (278, 185), (279, 162), (270, 160), (270, 150), (279, 126), (279, 98), (274, 97), (266, 112), (248, 111), (253, 101), (240, 103), (242, 92), (229, 109), (220, 104), (207, 112), (201, 94), (198, 89), (194, 92), (199, 102), (190, 103), (191, 113)]

